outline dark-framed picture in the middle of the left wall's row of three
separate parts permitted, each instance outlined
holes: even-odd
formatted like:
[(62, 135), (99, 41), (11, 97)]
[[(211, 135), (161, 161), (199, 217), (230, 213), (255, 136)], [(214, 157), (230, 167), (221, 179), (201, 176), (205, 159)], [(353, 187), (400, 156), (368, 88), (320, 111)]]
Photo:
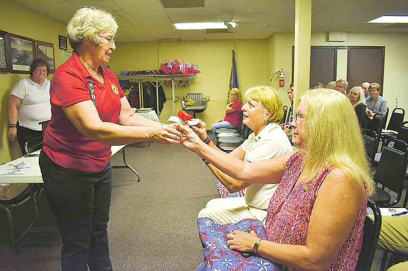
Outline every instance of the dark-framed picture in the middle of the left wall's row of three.
[(8, 47), (11, 52), (10, 72), (29, 74), (30, 65), (34, 60), (34, 40), (11, 33), (8, 35), (10, 36)]

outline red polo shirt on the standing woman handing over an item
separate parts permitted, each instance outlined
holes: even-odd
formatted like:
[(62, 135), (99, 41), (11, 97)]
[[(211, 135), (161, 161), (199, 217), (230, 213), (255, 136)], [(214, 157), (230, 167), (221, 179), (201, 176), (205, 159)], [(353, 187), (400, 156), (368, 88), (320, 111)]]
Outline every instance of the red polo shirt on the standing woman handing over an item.
[(100, 172), (111, 157), (111, 146), (99, 143), (82, 135), (69, 121), (63, 107), (92, 100), (103, 122), (117, 123), (124, 93), (115, 74), (99, 67), (104, 84), (93, 78), (80, 61), (77, 53), (56, 70), (49, 89), (51, 98), (51, 120), (44, 135), (44, 153), (57, 165), (64, 168)]

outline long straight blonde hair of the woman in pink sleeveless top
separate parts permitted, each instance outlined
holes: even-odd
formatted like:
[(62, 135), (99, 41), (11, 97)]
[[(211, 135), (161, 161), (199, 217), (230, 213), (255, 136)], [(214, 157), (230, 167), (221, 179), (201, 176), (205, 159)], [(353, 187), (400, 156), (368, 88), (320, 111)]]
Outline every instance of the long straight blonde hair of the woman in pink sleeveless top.
[(371, 193), (374, 183), (359, 121), (347, 97), (333, 89), (304, 92), (299, 102), (305, 108), (304, 172), (314, 176), (330, 164)]

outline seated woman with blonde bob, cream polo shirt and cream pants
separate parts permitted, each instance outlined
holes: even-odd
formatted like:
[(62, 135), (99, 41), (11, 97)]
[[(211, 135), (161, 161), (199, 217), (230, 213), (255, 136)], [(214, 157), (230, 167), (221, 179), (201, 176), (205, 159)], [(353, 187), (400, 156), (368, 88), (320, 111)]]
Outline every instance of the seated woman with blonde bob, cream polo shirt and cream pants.
[[(242, 107), (244, 114), (242, 123), (247, 125), (253, 133), (228, 156), (251, 163), (291, 152), (292, 145), (278, 125), (284, 115), (281, 96), (269, 86), (256, 86), (249, 88), (245, 97), (246, 103)], [(200, 122), (198, 128), (193, 129), (202, 140), (208, 138), (205, 123)], [(211, 141), (209, 145), (219, 150)], [(265, 223), (269, 200), (277, 184), (241, 182), (222, 173), (212, 164), (207, 162), (206, 164), (228, 192), (235, 193), (245, 188), (246, 191), (244, 197), (210, 200), (199, 212), (198, 218), (209, 217), (220, 224), (235, 223), (244, 218), (258, 219)]]

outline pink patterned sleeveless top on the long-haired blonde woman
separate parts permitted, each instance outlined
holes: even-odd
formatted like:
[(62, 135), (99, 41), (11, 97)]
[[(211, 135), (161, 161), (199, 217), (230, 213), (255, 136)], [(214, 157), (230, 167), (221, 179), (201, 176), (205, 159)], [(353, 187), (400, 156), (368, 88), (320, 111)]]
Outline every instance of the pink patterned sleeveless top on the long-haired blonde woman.
[[(281, 183), (269, 202), (266, 231), (270, 242), (291, 245), (305, 245), (306, 243), (310, 215), (317, 192), (326, 175), (335, 166), (328, 166), (309, 182), (293, 187), (303, 167), (303, 162), (304, 152), (302, 151), (296, 152), (289, 159), (285, 165)], [(366, 199), (368, 199), (367, 189)], [(326, 270), (355, 270), (363, 241), (366, 211), (367, 203), (357, 214), (345, 243)], [(298, 269), (288, 268), (289, 270)]]

